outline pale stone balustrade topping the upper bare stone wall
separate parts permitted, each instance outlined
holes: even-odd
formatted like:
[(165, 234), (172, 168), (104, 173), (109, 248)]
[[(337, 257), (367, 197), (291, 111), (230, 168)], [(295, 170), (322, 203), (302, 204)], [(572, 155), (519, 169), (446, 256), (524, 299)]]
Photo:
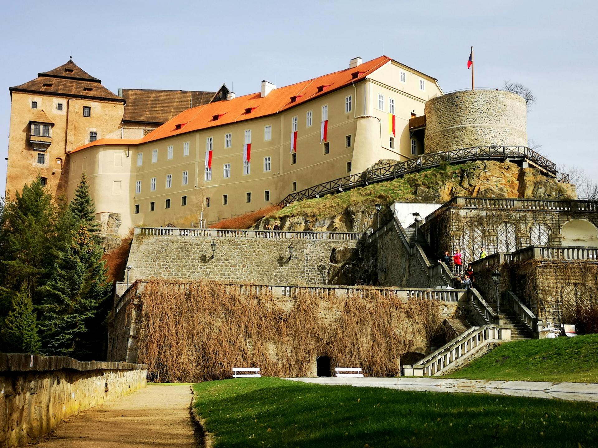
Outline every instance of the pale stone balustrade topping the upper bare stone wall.
[(277, 230), (179, 229), (173, 227), (136, 227), (135, 235), (335, 241), (355, 241), (363, 236), (363, 234), (356, 232), (287, 232)]

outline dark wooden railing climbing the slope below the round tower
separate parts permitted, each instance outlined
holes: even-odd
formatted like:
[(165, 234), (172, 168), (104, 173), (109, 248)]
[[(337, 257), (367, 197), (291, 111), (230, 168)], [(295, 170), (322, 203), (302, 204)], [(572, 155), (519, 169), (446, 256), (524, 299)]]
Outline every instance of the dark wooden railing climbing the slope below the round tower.
[(520, 159), (528, 160), (543, 168), (548, 173), (556, 176), (557, 167), (544, 156), (526, 146), (472, 146), (471, 148), (456, 149), (454, 151), (433, 152), (422, 154), (420, 157), (410, 159), (396, 164), (382, 165), (358, 174), (340, 177), (329, 180), (319, 185), (311, 186), (287, 195), (280, 204), (285, 207), (291, 202), (304, 199), (318, 198), (325, 194), (341, 192), (350, 188), (368, 185), (368, 183), (382, 182), (383, 180), (395, 179), (407, 173), (420, 171), (426, 168), (439, 166), (442, 162), (450, 164), (475, 161), (475, 160), (504, 160)]

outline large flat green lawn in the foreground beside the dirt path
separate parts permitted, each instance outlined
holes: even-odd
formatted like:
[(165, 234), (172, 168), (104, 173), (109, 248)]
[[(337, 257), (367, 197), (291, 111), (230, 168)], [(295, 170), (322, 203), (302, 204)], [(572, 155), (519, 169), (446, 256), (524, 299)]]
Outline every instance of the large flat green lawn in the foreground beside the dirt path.
[(598, 404), (324, 386), (278, 378), (193, 386), (216, 447), (590, 447)]

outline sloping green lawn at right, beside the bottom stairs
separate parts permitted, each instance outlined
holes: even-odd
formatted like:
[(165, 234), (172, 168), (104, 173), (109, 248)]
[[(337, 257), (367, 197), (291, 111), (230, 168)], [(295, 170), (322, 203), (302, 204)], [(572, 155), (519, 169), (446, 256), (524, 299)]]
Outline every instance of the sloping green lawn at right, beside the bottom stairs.
[(598, 383), (598, 335), (504, 343), (446, 377)]

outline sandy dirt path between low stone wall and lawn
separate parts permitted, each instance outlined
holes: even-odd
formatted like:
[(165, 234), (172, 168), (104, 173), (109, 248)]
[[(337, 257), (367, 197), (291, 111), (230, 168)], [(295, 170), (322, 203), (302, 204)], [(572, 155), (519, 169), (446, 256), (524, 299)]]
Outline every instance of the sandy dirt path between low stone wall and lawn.
[[(194, 447), (188, 385), (154, 386), (60, 422), (38, 448)], [(33, 445), (33, 444), (32, 444)]]

